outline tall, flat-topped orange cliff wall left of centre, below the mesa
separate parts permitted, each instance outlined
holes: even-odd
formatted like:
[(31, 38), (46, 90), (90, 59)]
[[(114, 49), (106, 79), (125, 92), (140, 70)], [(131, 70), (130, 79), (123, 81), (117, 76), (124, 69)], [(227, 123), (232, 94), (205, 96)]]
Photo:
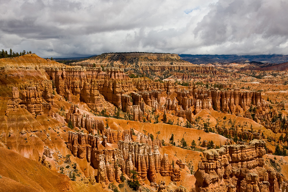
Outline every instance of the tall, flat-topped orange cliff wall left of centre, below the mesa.
[(71, 94), (80, 94), (80, 100), (87, 103), (88, 107), (101, 111), (101, 95), (118, 108), (122, 107), (121, 95), (132, 90), (132, 80), (124, 74), (123, 69), (107, 68), (106, 72), (101, 67), (87, 68), (46, 68), (50, 78), (54, 81), (57, 93), (68, 100)]

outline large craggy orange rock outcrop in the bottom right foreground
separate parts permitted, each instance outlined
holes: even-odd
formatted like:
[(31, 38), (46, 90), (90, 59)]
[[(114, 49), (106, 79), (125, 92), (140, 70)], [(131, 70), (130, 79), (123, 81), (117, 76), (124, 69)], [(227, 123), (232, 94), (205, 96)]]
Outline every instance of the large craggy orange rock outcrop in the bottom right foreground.
[(287, 184), (281, 174), (265, 164), (264, 144), (252, 140), (249, 145), (204, 151), (194, 174), (196, 191), (281, 191), (279, 187)]

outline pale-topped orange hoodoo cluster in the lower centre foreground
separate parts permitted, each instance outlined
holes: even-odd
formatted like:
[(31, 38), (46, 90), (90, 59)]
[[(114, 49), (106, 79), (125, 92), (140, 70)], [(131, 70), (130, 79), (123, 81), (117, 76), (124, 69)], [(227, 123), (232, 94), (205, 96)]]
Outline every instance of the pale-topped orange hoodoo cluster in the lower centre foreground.
[[(131, 177), (130, 170), (137, 171), (140, 181), (155, 182), (158, 172), (162, 176), (170, 176), (172, 181), (180, 180), (180, 170), (172, 168), (168, 155), (164, 154), (161, 157), (158, 150), (161, 145), (160, 140), (152, 142), (149, 136), (139, 135), (137, 141), (143, 141), (143, 143), (131, 142), (130, 134), (126, 132), (122, 134), (124, 141), (118, 140), (119, 131), (117, 136), (112, 135), (111, 137), (109, 128), (105, 134), (109, 138), (102, 136), (102, 145), (100, 145), (101, 137), (98, 135), (69, 131), (67, 143), (67, 147), (75, 157), (80, 159), (86, 157), (87, 161), (91, 162), (95, 169), (98, 169), (97, 182), (102, 183), (102, 186), (108, 181), (116, 180), (119, 183), (121, 172)], [(121, 136), (119, 138), (122, 139)], [(107, 146), (107, 141), (115, 143), (116, 140), (118, 140), (117, 148)], [(152, 146), (154, 146), (153, 151)]]

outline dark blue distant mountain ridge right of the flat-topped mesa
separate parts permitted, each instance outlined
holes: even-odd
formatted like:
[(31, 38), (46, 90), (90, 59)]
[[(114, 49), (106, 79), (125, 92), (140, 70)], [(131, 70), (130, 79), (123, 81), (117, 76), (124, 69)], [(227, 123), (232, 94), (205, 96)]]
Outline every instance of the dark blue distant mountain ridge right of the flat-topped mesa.
[(215, 62), (262, 62), (262, 63), (283, 63), (288, 61), (288, 55), (191, 55), (179, 54), (181, 59), (193, 64), (207, 64)]

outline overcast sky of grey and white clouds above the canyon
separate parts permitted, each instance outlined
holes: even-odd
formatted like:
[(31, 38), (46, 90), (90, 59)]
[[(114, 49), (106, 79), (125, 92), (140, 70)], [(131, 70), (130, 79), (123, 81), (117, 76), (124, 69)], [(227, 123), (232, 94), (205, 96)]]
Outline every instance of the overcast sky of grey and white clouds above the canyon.
[(288, 54), (287, 0), (0, 0), (0, 48), (41, 57), (105, 52)]

